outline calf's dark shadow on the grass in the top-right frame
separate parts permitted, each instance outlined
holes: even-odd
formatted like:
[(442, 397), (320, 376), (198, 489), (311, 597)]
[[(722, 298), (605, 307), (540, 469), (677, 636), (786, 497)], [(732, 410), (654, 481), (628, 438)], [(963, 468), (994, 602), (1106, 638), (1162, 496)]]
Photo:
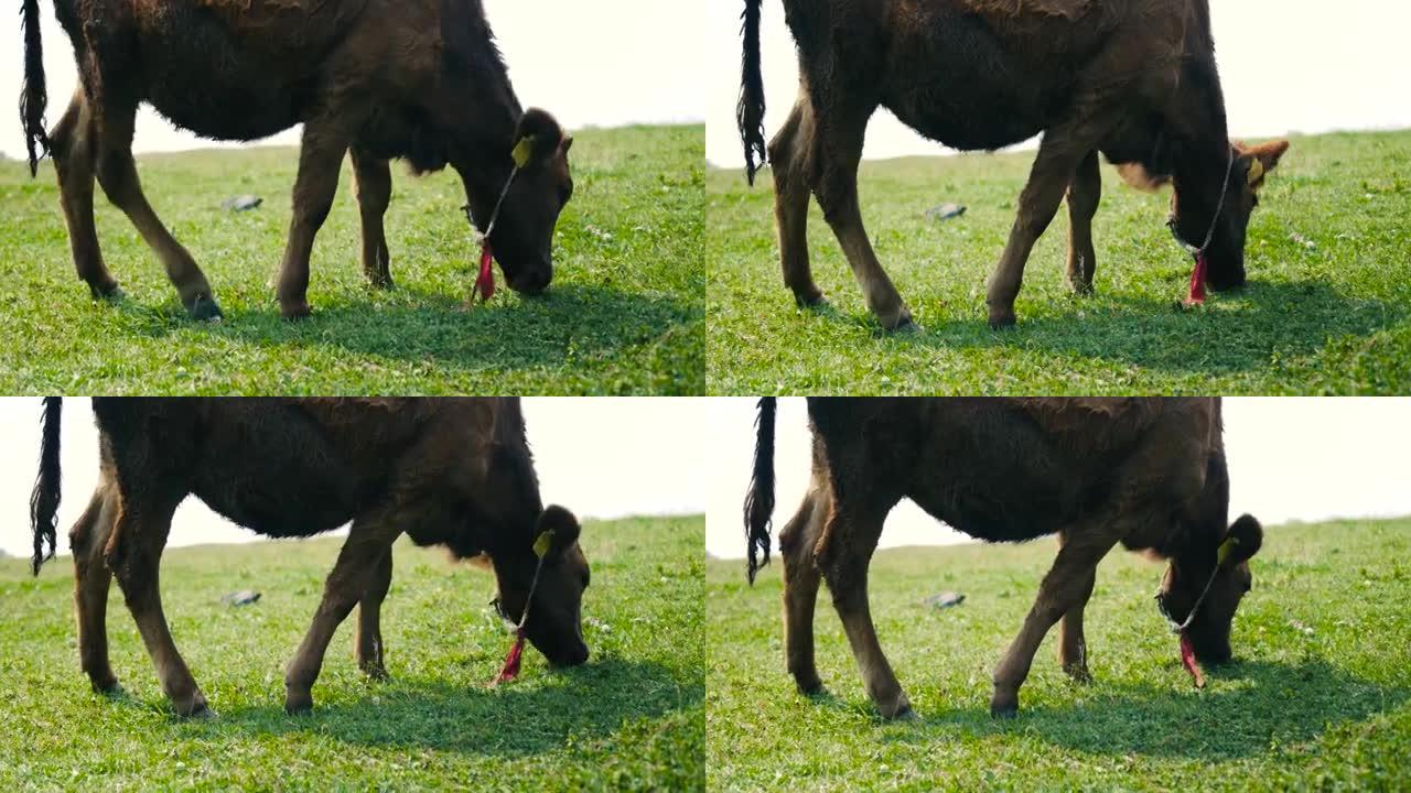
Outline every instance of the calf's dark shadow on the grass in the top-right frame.
[(1213, 295), (1205, 309), (1133, 295), (1067, 302), (1067, 310), (1050, 317), (1027, 317), (1022, 306), (1019, 327), (1005, 332), (991, 330), (983, 319), (957, 317), (957, 306), (948, 306), (950, 317), (933, 316), (923, 333), (895, 341), (1043, 350), (1173, 373), (1254, 371), (1267, 368), (1276, 351), (1280, 358), (1311, 356), (1331, 337), (1370, 336), (1408, 316), (1407, 306), (1355, 299), (1312, 281), (1253, 282)]

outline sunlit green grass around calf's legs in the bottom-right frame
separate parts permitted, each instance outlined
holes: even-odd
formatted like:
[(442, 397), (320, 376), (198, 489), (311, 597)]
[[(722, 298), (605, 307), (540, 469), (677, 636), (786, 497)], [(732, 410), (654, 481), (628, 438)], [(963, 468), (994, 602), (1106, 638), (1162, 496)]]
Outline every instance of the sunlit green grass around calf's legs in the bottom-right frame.
[[(1070, 683), (1051, 634), (1015, 721), (989, 717), (991, 673), (1017, 634), (1050, 540), (885, 550), (872, 615), (919, 714), (872, 710), (824, 590), (818, 673), (785, 670), (777, 562), (745, 586), (710, 562), (707, 763), (720, 790), (1405, 789), (1411, 779), (1411, 519), (1270, 529), (1236, 617), (1236, 663), (1201, 691), (1151, 601), (1163, 567), (1113, 553), (1086, 610), (1095, 682)], [(967, 595), (937, 611), (921, 598)]]

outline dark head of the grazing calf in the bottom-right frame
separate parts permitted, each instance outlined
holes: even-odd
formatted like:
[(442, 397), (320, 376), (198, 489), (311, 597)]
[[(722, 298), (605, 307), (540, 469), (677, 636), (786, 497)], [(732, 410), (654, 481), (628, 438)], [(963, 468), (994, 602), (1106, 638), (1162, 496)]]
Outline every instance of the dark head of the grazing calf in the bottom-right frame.
[[(1218, 549), (1192, 550), (1189, 556), (1175, 559), (1167, 570), (1158, 597), (1167, 614), (1178, 622), (1184, 622), (1191, 608), (1197, 608), (1185, 635), (1201, 663), (1225, 663), (1230, 659), (1230, 624), (1235, 621), (1235, 610), (1253, 584), (1249, 560), (1259, 553), (1263, 542), (1264, 529), (1259, 521), (1252, 515), (1242, 515), (1221, 539)], [(1206, 581), (1211, 588), (1205, 593), (1205, 600), (1201, 600)]]

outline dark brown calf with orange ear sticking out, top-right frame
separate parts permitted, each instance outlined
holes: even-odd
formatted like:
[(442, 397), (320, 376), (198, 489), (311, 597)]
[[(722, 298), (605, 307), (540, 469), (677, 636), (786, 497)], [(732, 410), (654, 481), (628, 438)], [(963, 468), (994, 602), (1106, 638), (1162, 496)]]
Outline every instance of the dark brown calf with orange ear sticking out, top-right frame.
[[(753, 181), (763, 143), (762, 0), (745, 0), (737, 110)], [(783, 0), (799, 52), (799, 97), (769, 141), (785, 285), (800, 305), (823, 292), (807, 248), (810, 195), (823, 207), (868, 306), (886, 327), (912, 323), (862, 226), (856, 169), (868, 119), (886, 107), (959, 150), (995, 150), (1043, 133), (1009, 243), (989, 281), (995, 327), (1015, 322), (1024, 264), (1067, 196), (1068, 282), (1092, 291), (1098, 154), (1140, 164), (1175, 186), (1175, 227), (1208, 251), (1211, 286), (1245, 284), (1254, 207), (1253, 155), (1233, 150), (1206, 0)], [(1283, 145), (1287, 143), (1271, 144)], [(1230, 155), (1236, 157), (1230, 168)], [(1277, 158), (1273, 159), (1277, 162)], [(1226, 183), (1222, 179), (1230, 171)], [(1216, 217), (1216, 206), (1225, 205)]]

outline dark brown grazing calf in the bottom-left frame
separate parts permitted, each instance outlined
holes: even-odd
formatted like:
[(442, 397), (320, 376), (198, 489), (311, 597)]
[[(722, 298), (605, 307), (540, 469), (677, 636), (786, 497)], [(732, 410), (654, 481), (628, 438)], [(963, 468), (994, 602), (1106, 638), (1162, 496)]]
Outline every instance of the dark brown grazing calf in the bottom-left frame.
[[(58, 399), (45, 422), (58, 420)], [(333, 631), (358, 608), (354, 648), (370, 676), (387, 674), (380, 607), (392, 542), (443, 545), (488, 559), (502, 612), (529, 610), (528, 639), (550, 663), (587, 659), (580, 603), (588, 566), (579, 523), (545, 508), (516, 399), (124, 399), (95, 398), (102, 477), (73, 525), (79, 653), (95, 689), (117, 684), (104, 612), (117, 577), (172, 706), (206, 710), (162, 615), (158, 564), (176, 505), (196, 495), (230, 521), (268, 536), (310, 536), (351, 521), (309, 632), (285, 674), (285, 708), (309, 710)], [(56, 426), (56, 425), (55, 425)], [(47, 440), (56, 452), (58, 439)], [(47, 449), (48, 452), (49, 449)], [(58, 505), (56, 464), (41, 467), (38, 539)], [(540, 532), (553, 543), (533, 601)], [(49, 538), (52, 543), (52, 538)]]

